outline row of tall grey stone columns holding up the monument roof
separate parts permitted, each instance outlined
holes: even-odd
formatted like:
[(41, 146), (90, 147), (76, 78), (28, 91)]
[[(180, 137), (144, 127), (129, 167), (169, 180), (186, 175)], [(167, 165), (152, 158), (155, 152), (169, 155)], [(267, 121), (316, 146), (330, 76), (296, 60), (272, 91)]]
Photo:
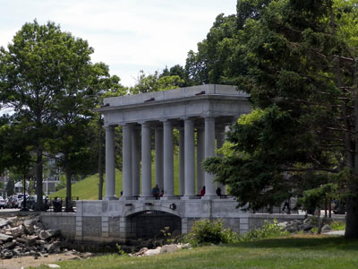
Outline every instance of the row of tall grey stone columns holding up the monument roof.
[[(149, 123), (141, 123), (141, 149), (139, 130), (132, 124), (123, 126), (123, 198), (140, 195), (140, 151), (141, 151), (141, 198), (152, 197), (151, 190), (151, 143)], [(197, 193), (205, 185), (204, 198), (217, 196), (214, 175), (203, 172), (201, 161), (215, 155), (215, 117), (205, 117), (204, 129), (197, 130)], [(217, 147), (224, 141), (224, 129), (217, 132)], [(173, 124), (163, 121), (163, 127), (155, 128), (156, 184), (164, 189), (163, 199), (174, 197), (174, 144)], [(115, 129), (106, 129), (106, 197), (115, 197)], [(204, 180), (203, 180), (204, 178)], [(194, 122), (184, 119), (179, 129), (179, 194), (183, 198), (195, 196), (195, 142)], [(222, 187), (223, 188), (223, 187)]]

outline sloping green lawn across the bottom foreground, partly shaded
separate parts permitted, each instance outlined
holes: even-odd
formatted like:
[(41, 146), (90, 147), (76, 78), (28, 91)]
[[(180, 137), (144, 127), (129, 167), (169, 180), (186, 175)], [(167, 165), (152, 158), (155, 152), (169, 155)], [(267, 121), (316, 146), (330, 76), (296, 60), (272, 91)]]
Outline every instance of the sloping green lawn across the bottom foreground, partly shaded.
[(62, 269), (358, 268), (358, 240), (299, 236), (263, 239), (235, 245), (198, 247), (159, 256), (108, 255), (55, 264), (60, 265)]

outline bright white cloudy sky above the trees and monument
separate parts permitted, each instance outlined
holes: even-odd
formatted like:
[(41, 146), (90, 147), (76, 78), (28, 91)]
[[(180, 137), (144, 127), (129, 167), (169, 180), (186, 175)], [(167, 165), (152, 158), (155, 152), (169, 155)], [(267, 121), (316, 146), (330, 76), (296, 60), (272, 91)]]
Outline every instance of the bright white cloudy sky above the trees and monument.
[(89, 41), (93, 63), (104, 62), (133, 86), (140, 70), (185, 65), (217, 15), (235, 13), (236, 0), (0, 0), (0, 6), (0, 46), (25, 22), (55, 22)]

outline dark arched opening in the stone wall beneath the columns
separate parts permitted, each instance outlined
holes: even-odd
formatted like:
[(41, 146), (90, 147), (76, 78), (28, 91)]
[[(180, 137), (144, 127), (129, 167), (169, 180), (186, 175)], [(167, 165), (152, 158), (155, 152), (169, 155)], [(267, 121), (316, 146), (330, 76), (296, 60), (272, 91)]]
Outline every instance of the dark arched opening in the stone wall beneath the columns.
[(170, 234), (182, 233), (180, 217), (162, 211), (146, 211), (128, 217), (131, 223), (131, 234), (135, 239), (154, 239), (164, 237), (163, 230)]

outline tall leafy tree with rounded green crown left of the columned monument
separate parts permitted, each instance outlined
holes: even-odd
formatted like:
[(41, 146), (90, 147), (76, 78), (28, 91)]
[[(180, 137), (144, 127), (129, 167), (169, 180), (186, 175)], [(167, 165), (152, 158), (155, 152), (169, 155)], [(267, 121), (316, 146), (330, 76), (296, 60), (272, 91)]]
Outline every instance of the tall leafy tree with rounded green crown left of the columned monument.
[[(65, 156), (61, 163), (70, 176), (72, 164), (79, 162), (68, 156), (77, 157), (82, 149), (73, 138), (83, 137), (87, 113), (96, 104), (95, 98), (89, 97), (104, 90), (99, 88), (106, 85), (103, 81), (119, 81), (109, 77), (106, 65), (90, 62), (93, 51), (87, 41), (63, 32), (54, 22), (39, 25), (36, 21), (24, 24), (13, 43), (0, 49), (0, 99), (31, 127), (27, 135), (36, 152), (37, 210), (44, 209), (44, 153), (61, 152), (60, 156)], [(58, 139), (55, 148), (51, 147), (54, 139)]]

